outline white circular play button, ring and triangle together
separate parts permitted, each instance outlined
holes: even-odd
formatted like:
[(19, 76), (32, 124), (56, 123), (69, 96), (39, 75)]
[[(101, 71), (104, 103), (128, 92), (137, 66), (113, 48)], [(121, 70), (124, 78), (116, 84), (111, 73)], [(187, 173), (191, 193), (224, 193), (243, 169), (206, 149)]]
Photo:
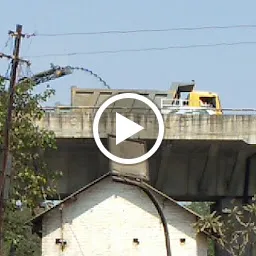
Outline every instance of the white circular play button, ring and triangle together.
[[(99, 136), (99, 122), (100, 122), (101, 115), (111, 104), (115, 103), (116, 101), (124, 100), (124, 99), (134, 99), (146, 104), (150, 109), (152, 109), (158, 122), (158, 136), (155, 144), (146, 154), (136, 158), (121, 158), (113, 155), (102, 144)], [(116, 112), (115, 123), (116, 123), (116, 145), (120, 144), (126, 139), (129, 139), (134, 134), (144, 130), (144, 127), (124, 117), (118, 112)], [(151, 100), (136, 93), (122, 93), (107, 99), (96, 112), (95, 118), (93, 120), (93, 137), (99, 150), (110, 160), (119, 164), (124, 164), (124, 165), (138, 164), (150, 158), (160, 147), (164, 137), (164, 121), (163, 121), (161, 112)]]

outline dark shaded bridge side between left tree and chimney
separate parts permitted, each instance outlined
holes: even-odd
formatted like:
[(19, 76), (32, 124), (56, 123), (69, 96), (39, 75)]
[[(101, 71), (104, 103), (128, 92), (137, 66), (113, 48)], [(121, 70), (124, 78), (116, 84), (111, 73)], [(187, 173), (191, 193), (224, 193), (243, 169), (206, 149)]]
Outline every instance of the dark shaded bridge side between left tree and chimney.
[(50, 169), (63, 172), (60, 194), (73, 193), (109, 171), (109, 161), (93, 139), (59, 139), (57, 143), (58, 150), (48, 151), (45, 159)]

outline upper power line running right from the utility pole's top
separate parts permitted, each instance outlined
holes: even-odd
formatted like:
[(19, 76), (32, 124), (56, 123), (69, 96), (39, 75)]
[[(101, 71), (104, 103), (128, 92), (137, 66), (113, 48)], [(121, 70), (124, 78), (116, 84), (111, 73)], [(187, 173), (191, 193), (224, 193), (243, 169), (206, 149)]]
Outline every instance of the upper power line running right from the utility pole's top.
[(70, 33), (38, 33), (30, 36), (56, 37), (56, 36), (90, 36), (104, 34), (134, 34), (134, 33), (152, 33), (152, 32), (170, 32), (170, 31), (195, 31), (195, 30), (213, 30), (213, 29), (235, 29), (235, 28), (256, 28), (256, 24), (240, 24), (228, 26), (201, 26), (201, 27), (177, 27), (163, 29), (135, 29), (135, 30), (107, 30), (98, 32), (70, 32)]

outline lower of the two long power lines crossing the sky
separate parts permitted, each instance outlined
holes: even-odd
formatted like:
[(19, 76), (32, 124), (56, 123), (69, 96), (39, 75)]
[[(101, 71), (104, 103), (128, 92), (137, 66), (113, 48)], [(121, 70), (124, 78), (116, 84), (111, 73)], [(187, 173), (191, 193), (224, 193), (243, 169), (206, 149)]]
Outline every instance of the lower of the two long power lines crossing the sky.
[(25, 56), (26, 58), (45, 58), (45, 57), (64, 57), (75, 55), (96, 55), (96, 54), (116, 54), (126, 52), (147, 52), (147, 51), (166, 51), (171, 49), (189, 49), (189, 48), (206, 48), (219, 46), (236, 46), (236, 45), (255, 45), (256, 41), (251, 42), (231, 42), (231, 43), (216, 43), (216, 44), (194, 44), (194, 45), (171, 45), (166, 47), (151, 47), (151, 48), (135, 48), (135, 49), (120, 49), (120, 50), (104, 50), (91, 52), (71, 52), (71, 53), (50, 53), (44, 55)]

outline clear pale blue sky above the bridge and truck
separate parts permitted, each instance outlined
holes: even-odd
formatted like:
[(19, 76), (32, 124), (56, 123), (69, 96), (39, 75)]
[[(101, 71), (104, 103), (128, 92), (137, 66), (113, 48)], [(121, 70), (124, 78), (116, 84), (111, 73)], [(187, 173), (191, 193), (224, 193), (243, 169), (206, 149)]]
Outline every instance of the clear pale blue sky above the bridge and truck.
[[(11, 42), (5, 48), (4, 45), (8, 31), (15, 30), (16, 24), (22, 24), (27, 34), (228, 26), (256, 24), (255, 9), (253, 0), (3, 1), (0, 52), (11, 52)], [(49, 69), (51, 63), (84, 67), (99, 74), (113, 89), (167, 90), (172, 82), (195, 80), (197, 90), (218, 93), (224, 108), (256, 108), (256, 44), (33, 58), (47, 54), (240, 41), (256, 42), (256, 28), (35, 36), (22, 40), (21, 56), (31, 61), (33, 73)], [(1, 75), (5, 75), (7, 66), (8, 61), (0, 59)], [(97, 79), (79, 71), (50, 84), (56, 89), (56, 95), (47, 105), (57, 101), (69, 104), (71, 86), (103, 88)], [(39, 85), (37, 91), (44, 88), (45, 85)]]

